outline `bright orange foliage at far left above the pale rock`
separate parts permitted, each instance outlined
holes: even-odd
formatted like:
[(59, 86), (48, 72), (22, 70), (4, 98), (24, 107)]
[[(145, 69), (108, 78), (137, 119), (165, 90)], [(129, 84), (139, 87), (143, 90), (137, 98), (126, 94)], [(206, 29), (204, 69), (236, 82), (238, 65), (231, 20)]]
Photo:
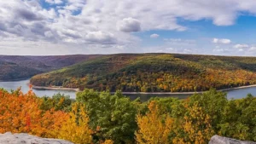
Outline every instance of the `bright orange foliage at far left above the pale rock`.
[(0, 133), (29, 133), (43, 137), (55, 137), (52, 131), (59, 130), (67, 120), (65, 112), (40, 110), (40, 99), (30, 90), (22, 94), (19, 90), (9, 94), (0, 90)]

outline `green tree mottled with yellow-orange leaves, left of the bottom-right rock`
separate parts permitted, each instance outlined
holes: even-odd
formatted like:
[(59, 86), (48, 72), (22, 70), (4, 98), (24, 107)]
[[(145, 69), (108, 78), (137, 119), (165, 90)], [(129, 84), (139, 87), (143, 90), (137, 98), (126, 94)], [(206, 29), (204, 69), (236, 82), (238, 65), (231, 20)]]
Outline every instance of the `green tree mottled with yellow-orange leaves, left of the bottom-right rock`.
[(179, 114), (173, 114), (173, 143), (207, 143), (212, 135), (218, 134), (219, 124), (224, 122), (224, 107), (227, 103), (226, 94), (215, 89), (184, 100), (179, 107)]

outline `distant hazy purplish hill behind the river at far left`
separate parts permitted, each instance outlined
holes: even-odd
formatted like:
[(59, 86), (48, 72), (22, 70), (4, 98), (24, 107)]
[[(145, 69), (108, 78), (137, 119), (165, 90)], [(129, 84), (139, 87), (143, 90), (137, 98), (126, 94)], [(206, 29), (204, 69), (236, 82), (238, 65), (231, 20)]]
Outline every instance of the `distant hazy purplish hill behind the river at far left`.
[(15, 56), (0, 55), (0, 81), (31, 78), (32, 76), (71, 66), (100, 55)]

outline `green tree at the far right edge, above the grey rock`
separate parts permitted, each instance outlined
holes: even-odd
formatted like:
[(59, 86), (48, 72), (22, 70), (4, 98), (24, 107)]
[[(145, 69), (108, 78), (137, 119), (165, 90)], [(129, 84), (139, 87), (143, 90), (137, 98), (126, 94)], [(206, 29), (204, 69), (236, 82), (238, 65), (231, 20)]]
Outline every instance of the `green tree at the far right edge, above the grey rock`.
[(224, 122), (219, 124), (220, 135), (240, 140), (256, 141), (256, 97), (247, 95), (230, 100), (224, 109)]

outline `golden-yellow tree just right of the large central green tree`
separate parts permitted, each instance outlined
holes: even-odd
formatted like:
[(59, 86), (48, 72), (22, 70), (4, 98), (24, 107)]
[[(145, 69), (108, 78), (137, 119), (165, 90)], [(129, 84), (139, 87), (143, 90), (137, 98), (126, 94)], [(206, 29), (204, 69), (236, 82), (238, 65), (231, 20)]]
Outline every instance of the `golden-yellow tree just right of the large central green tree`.
[(136, 132), (137, 143), (140, 144), (166, 144), (168, 135), (172, 130), (172, 118), (160, 115), (159, 107), (154, 101), (148, 105), (149, 112), (146, 116), (137, 115), (138, 129)]

